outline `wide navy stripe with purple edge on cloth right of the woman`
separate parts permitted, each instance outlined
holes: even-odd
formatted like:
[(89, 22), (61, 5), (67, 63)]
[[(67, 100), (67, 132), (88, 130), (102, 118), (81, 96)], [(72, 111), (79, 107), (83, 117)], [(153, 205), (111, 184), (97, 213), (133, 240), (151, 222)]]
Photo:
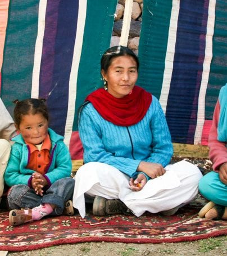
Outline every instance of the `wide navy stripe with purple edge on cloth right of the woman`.
[(208, 0), (180, 1), (166, 119), (172, 141), (194, 142), (199, 88), (205, 58)]

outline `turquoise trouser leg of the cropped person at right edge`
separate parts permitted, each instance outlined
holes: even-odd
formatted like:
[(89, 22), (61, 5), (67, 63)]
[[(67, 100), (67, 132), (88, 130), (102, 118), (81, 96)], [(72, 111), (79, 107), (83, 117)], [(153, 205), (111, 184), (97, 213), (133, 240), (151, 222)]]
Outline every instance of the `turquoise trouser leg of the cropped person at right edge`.
[(199, 192), (206, 199), (227, 206), (227, 185), (221, 182), (219, 173), (209, 172), (199, 180)]

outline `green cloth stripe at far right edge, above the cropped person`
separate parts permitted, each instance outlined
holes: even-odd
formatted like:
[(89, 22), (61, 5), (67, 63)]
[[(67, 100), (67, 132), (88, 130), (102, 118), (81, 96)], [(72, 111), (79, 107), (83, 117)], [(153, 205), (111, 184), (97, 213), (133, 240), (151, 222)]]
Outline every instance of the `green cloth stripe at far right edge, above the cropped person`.
[(226, 1), (217, 0), (215, 9), (215, 30), (213, 57), (206, 92), (205, 119), (211, 120), (220, 88), (227, 83), (227, 23)]

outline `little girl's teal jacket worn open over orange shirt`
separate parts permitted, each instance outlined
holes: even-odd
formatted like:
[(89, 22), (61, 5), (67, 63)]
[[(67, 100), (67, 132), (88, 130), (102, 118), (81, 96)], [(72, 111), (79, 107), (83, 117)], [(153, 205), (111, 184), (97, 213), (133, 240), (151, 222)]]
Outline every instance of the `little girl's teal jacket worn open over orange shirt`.
[[(48, 129), (51, 138), (51, 158), (44, 177), (47, 179), (48, 186), (58, 179), (70, 177), (72, 163), (70, 153), (63, 142), (63, 137), (52, 129)], [(12, 145), (10, 159), (4, 173), (4, 181), (8, 186), (24, 184), (31, 187), (31, 175), (34, 170), (27, 169), (30, 158), (30, 151), (21, 134), (12, 138), (15, 143)]]

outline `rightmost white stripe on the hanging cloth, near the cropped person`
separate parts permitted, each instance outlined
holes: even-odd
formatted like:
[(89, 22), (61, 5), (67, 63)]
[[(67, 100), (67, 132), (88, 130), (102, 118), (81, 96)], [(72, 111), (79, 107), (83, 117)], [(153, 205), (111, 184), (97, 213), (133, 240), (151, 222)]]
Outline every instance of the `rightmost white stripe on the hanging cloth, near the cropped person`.
[(203, 62), (203, 73), (202, 73), (201, 87), (199, 90), (199, 98), (198, 98), (197, 125), (196, 125), (196, 132), (194, 136), (195, 145), (201, 144), (203, 124), (205, 122), (205, 98), (206, 98), (206, 89), (207, 89), (207, 84), (208, 84), (208, 79), (210, 74), (210, 65), (212, 60), (212, 47), (213, 47), (212, 40), (213, 40), (214, 26), (215, 26), (215, 5), (216, 5), (216, 0), (209, 1), (205, 59)]

